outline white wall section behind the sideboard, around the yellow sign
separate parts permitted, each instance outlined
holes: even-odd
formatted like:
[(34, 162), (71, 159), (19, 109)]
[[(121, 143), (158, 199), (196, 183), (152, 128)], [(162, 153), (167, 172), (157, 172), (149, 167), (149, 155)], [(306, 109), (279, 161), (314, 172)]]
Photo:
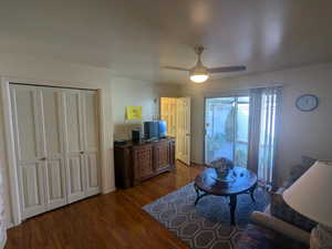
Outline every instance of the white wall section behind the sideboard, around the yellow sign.
[[(177, 96), (179, 91), (177, 85), (113, 77), (112, 93), (114, 138), (128, 139), (133, 127), (142, 127), (143, 121), (158, 118), (160, 96)], [(126, 106), (142, 106), (142, 122), (126, 121)]]

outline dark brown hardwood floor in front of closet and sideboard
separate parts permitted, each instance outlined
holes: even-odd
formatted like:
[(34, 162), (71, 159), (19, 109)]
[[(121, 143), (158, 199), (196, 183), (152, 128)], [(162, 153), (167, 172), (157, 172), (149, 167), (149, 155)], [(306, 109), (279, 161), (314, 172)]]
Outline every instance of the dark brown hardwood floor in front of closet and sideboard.
[(28, 219), (8, 230), (6, 249), (187, 249), (142, 206), (193, 181), (201, 169), (177, 162), (176, 173)]

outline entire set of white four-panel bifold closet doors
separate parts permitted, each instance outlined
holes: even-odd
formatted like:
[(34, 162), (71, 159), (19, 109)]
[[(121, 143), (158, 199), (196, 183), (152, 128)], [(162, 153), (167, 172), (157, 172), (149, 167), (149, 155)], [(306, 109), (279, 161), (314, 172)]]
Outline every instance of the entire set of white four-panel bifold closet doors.
[(100, 193), (94, 91), (11, 84), (22, 218)]

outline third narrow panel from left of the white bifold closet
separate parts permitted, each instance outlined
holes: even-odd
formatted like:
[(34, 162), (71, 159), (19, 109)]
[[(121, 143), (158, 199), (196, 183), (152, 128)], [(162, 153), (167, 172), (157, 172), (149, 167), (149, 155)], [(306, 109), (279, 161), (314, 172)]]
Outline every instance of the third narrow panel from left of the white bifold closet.
[(84, 138), (82, 98), (80, 91), (63, 90), (64, 148), (68, 183), (68, 201), (73, 203), (85, 196)]

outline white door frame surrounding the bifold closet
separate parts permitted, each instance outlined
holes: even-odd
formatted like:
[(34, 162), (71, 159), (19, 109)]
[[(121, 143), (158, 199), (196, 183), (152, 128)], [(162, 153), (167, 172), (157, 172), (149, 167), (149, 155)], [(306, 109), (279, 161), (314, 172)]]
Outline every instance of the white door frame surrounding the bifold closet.
[[(84, 86), (75, 87), (75, 83), (69, 83), (69, 82), (59, 82), (59, 81), (38, 81), (38, 80), (22, 80), (18, 77), (12, 76), (1, 76), (0, 77), (0, 91), (1, 91), (1, 97), (2, 97), (2, 118), (3, 118), (3, 135), (4, 135), (4, 148), (6, 148), (6, 156), (7, 158), (4, 162), (7, 163), (6, 170), (7, 174), (3, 177), (6, 181), (8, 183), (8, 191), (10, 194), (9, 196), (9, 203), (11, 208), (11, 217), (10, 220), (7, 224), (7, 227), (13, 227), (18, 226), (22, 222), (22, 214), (21, 214), (21, 201), (20, 201), (20, 194), (19, 194), (19, 179), (18, 179), (18, 165), (17, 165), (17, 157), (15, 157), (15, 146), (14, 146), (14, 131), (13, 131), (13, 117), (12, 117), (12, 108), (11, 108), (11, 96), (10, 96), (10, 83), (15, 84), (24, 84), (24, 85), (31, 85), (31, 86), (44, 86), (44, 87), (62, 87), (62, 89), (76, 89), (76, 90), (93, 90), (96, 91), (97, 94), (97, 102), (98, 102), (98, 144), (100, 144), (100, 152), (101, 155), (101, 169), (100, 169), (100, 178), (101, 180), (101, 193), (106, 194), (110, 191), (115, 190), (115, 188), (107, 189), (104, 187), (104, 184), (106, 184), (107, 180), (110, 180), (110, 177), (112, 176), (105, 176), (102, 177), (102, 173), (108, 172), (107, 169), (107, 163), (106, 163), (106, 155), (105, 151), (107, 151), (105, 144), (103, 143), (103, 136), (105, 135), (105, 127), (103, 125), (104, 117), (101, 115), (102, 110), (104, 108), (104, 105), (101, 101), (102, 98), (102, 89), (101, 87), (89, 87), (85, 85), (89, 85), (86, 83), (82, 83)], [(73, 86), (72, 86), (73, 85)], [(108, 178), (107, 178), (108, 177)], [(8, 180), (7, 180), (8, 179)]]

